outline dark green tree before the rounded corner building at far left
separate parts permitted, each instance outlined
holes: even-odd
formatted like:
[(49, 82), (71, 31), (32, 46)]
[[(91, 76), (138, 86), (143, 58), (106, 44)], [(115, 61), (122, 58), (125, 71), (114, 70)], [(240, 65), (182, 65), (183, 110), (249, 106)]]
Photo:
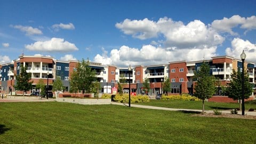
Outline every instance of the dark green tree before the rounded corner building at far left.
[(14, 88), (18, 91), (22, 91), (23, 92), (23, 96), (25, 91), (29, 91), (32, 88), (32, 82), (29, 82), (31, 79), (31, 73), (27, 73), (26, 71), (27, 67), (20, 67), (20, 74), (19, 75), (15, 75), (16, 77), (16, 85), (14, 85)]

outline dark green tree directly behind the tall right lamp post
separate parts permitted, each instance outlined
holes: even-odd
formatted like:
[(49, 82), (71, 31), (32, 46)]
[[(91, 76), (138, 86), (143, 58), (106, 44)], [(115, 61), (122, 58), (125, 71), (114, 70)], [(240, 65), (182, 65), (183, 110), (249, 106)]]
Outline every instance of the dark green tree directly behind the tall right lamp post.
[[(229, 98), (233, 100), (241, 100), (242, 99), (242, 73), (240, 70), (237, 72), (233, 69), (231, 74), (230, 83), (227, 84), (227, 88), (225, 89), (225, 93), (228, 95)], [(249, 77), (247, 73), (244, 73), (244, 98), (248, 99), (252, 94), (253, 89), (252, 85), (249, 83)], [(241, 108), (241, 103), (240, 103)]]

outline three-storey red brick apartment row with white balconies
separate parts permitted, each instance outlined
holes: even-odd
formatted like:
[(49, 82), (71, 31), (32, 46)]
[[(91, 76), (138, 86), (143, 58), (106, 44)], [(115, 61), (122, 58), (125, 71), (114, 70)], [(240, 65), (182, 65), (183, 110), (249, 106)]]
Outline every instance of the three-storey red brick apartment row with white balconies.
[[(211, 74), (219, 78), (220, 85), (226, 85), (230, 81), (232, 70), (241, 70), (242, 61), (233, 57), (221, 56), (212, 57), (211, 60), (201, 61), (173, 61), (163, 65), (151, 66), (132, 66), (131, 71), (128, 67), (122, 68), (111, 65), (101, 65), (101, 63), (90, 62), (90, 67), (96, 71), (96, 79), (100, 82), (101, 93), (111, 93), (112, 87), (118, 87), (117, 83), (120, 78), (125, 78), (131, 86), (131, 92), (143, 94), (143, 81), (149, 79), (150, 95), (162, 93), (162, 84), (167, 77), (171, 82), (172, 94), (193, 93), (193, 76), (196, 70), (200, 68), (203, 62), (208, 62), (211, 66)], [(15, 75), (19, 75), (20, 67), (27, 66), (27, 72), (31, 73), (33, 81), (33, 91), (36, 90), (36, 84), (39, 79), (43, 79), (45, 84), (49, 82), (49, 90), (52, 89), (52, 83), (57, 77), (60, 77), (65, 91), (70, 89), (69, 78), (71, 73), (76, 70), (79, 61), (59, 61), (52, 57), (27, 56), (21, 55), (17, 60), (0, 66), (1, 73), (1, 93), (16, 94), (13, 85), (15, 85)], [(245, 69), (249, 75), (250, 83), (255, 85), (255, 67), (254, 63), (245, 61)], [(130, 79), (129, 79), (130, 72)], [(64, 91), (64, 92), (65, 92)], [(124, 93), (129, 92), (129, 84), (124, 85)], [(221, 91), (221, 90), (219, 90)], [(30, 92), (27, 92), (29, 94)], [(220, 92), (217, 92), (220, 93)]]

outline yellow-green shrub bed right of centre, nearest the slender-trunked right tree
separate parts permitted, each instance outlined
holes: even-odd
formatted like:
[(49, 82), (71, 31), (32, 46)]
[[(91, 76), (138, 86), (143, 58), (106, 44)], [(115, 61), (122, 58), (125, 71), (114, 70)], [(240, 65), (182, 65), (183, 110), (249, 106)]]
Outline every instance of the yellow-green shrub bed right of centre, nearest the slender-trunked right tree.
[(162, 100), (183, 100), (183, 101), (201, 101), (200, 99), (189, 94), (181, 95), (162, 95)]

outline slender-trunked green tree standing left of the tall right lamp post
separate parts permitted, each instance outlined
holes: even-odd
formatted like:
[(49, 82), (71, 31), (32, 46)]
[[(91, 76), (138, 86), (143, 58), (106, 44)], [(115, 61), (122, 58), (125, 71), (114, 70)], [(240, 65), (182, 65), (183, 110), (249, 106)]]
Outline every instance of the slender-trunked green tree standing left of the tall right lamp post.
[(210, 66), (203, 62), (198, 71), (196, 71), (194, 78), (195, 84), (195, 97), (203, 100), (202, 112), (204, 114), (204, 101), (209, 99), (216, 92), (215, 77), (210, 75)]

